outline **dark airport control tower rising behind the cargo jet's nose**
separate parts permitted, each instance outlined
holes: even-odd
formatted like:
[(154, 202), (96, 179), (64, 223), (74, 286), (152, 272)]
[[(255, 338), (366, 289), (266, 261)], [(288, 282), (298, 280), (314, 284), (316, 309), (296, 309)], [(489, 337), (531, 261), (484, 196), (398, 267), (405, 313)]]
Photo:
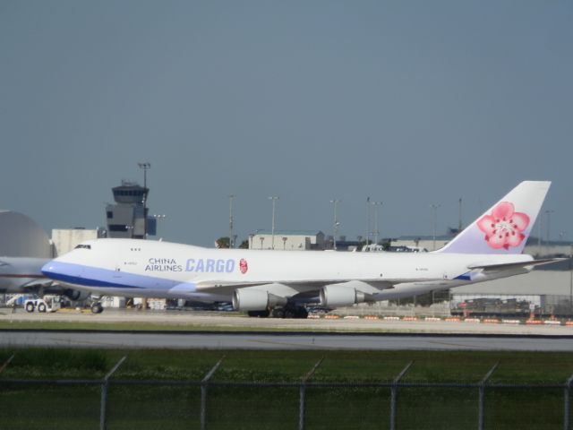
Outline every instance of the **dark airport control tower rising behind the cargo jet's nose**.
[(148, 217), (144, 206), (150, 189), (133, 182), (122, 181), (112, 188), (115, 204), (107, 204), (107, 237), (144, 239), (155, 236), (157, 219)]

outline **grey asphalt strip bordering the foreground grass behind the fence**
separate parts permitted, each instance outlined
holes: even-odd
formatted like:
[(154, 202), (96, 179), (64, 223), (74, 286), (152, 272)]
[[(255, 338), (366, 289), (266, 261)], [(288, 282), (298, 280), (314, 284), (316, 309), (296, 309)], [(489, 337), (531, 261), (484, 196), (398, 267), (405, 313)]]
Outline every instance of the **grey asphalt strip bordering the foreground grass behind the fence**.
[(514, 350), (573, 352), (573, 338), (362, 334), (0, 331), (0, 347)]

